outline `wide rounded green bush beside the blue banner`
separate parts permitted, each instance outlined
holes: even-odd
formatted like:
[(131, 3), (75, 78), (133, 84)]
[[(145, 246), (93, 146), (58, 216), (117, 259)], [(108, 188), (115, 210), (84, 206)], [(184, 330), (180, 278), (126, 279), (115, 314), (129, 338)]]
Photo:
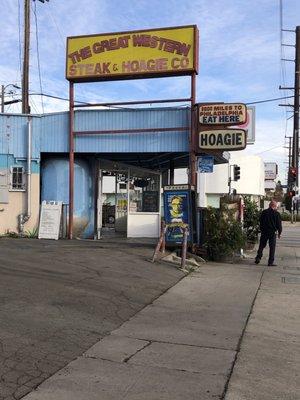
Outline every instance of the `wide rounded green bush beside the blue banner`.
[(205, 220), (205, 243), (210, 260), (220, 261), (232, 257), (245, 245), (242, 225), (233, 213), (208, 208)]

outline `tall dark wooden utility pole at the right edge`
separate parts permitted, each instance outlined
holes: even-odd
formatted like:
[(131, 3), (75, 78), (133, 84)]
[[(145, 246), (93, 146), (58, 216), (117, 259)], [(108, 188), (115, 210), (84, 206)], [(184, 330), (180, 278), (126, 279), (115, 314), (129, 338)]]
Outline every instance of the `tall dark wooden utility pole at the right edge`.
[(292, 167), (296, 168), (296, 193), (299, 191), (299, 92), (300, 89), (300, 26), (296, 27), (295, 91), (294, 91), (294, 132)]

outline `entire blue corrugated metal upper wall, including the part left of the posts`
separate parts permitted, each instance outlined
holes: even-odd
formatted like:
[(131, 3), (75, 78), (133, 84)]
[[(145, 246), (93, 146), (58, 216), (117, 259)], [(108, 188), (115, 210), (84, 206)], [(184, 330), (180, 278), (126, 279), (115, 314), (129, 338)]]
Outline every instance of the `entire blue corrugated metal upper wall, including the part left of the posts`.
[[(68, 152), (68, 118), (67, 112), (32, 116), (33, 158), (40, 158), (41, 152)], [(0, 115), (0, 154), (26, 157), (27, 120), (24, 115)], [(77, 131), (186, 127), (189, 122), (188, 108), (78, 110), (75, 113)], [(78, 136), (75, 151), (186, 152), (188, 131)]]

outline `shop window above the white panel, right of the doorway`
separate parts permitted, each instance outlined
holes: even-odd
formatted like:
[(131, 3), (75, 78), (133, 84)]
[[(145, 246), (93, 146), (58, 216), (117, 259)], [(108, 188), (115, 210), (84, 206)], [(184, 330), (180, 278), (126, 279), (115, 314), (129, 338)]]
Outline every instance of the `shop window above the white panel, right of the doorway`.
[(130, 170), (129, 212), (159, 212), (160, 175)]

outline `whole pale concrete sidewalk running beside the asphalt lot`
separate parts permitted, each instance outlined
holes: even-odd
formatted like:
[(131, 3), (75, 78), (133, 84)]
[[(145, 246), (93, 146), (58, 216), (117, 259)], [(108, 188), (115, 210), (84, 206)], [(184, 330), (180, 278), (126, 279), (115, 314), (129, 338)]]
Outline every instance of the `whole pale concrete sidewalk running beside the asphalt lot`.
[(293, 251), (280, 268), (204, 264), (25, 399), (299, 399)]

